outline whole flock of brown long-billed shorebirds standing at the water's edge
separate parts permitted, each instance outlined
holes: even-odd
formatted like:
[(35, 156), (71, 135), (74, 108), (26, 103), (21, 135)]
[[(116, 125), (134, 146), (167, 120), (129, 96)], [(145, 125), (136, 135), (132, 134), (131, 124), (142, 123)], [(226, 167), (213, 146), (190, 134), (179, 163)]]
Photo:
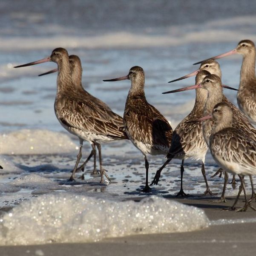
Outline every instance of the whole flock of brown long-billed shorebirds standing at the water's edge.
[[(239, 109), (223, 94), (223, 87), (233, 89), (221, 83), (221, 69), (216, 59), (232, 54), (243, 55), (242, 69), (237, 101)], [(164, 93), (196, 89), (196, 101), (193, 110), (175, 128), (172, 129), (166, 118), (145, 97), (144, 70), (134, 66), (128, 75), (104, 81), (131, 80), (131, 87), (125, 104), (124, 117), (114, 113), (104, 102), (95, 98), (83, 89), (81, 61), (76, 55), (68, 55), (66, 49), (57, 48), (48, 58), (16, 66), (25, 67), (47, 61), (57, 63), (58, 69), (46, 72), (46, 75), (58, 71), (55, 114), (60, 124), (80, 141), (77, 161), (70, 181), (74, 180), (76, 171), (84, 170), (86, 163), (93, 156), (96, 174), (96, 147), (100, 160), (101, 183), (104, 175), (110, 181), (103, 168), (101, 143), (120, 139), (129, 139), (144, 155), (146, 184), (143, 192), (150, 192), (148, 184), (148, 155), (166, 155), (167, 160), (156, 172), (151, 185), (158, 184), (161, 171), (173, 159), (181, 159), (181, 189), (178, 195), (186, 196), (182, 187), (184, 160), (191, 158), (201, 161), (201, 172), (204, 176), (206, 190), (211, 192), (204, 170), (204, 160), (208, 148), (220, 169), (215, 174), (224, 172), (224, 188), (220, 201), (225, 201), (224, 193), (227, 184), (227, 173), (238, 175), (241, 181), (236, 201), (230, 210), (245, 211), (248, 207), (256, 210), (251, 202), (255, 197), (252, 175), (256, 175), (256, 75), (255, 45), (250, 40), (242, 40), (230, 52), (200, 61), (199, 69), (179, 81), (196, 75), (196, 84)], [(252, 124), (251, 124), (252, 123)], [(88, 141), (92, 151), (86, 161), (78, 167), (82, 157), (83, 141)], [(244, 187), (244, 176), (249, 175), (252, 196), (247, 198)], [(214, 176), (214, 175), (213, 175)], [(244, 207), (236, 208), (240, 193), (244, 191)]]

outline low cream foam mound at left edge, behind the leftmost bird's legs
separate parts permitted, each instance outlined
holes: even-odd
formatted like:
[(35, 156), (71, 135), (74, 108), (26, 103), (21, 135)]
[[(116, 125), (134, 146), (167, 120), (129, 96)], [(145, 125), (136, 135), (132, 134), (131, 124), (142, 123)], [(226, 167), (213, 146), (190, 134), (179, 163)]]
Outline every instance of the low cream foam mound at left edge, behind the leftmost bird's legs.
[(35, 155), (74, 152), (71, 138), (46, 129), (20, 129), (0, 135), (1, 154)]

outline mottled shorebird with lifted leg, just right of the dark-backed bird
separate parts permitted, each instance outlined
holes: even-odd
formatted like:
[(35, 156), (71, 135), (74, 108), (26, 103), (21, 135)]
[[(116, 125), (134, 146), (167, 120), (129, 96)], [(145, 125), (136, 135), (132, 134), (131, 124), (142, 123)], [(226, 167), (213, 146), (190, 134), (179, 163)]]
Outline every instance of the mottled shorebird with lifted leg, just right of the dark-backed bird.
[[(196, 84), (201, 83), (203, 79), (210, 75), (208, 71), (200, 71), (196, 75)], [(158, 184), (161, 171), (164, 167), (173, 159), (178, 158), (182, 159), (181, 163), (181, 189), (177, 196), (187, 196), (184, 193), (182, 187), (182, 180), (183, 180), (183, 172), (184, 172), (184, 159), (191, 158), (193, 160), (201, 160), (201, 171), (204, 176), (204, 181), (206, 184), (206, 190), (204, 194), (206, 195), (209, 193), (213, 195), (211, 192), (207, 178), (205, 176), (204, 170), (204, 159), (207, 153), (208, 147), (204, 141), (203, 136), (203, 128), (201, 122), (191, 122), (204, 114), (204, 105), (207, 100), (207, 90), (198, 88), (196, 89), (196, 101), (195, 105), (187, 117), (185, 117), (175, 128), (173, 132), (173, 138), (171, 142), (171, 146), (169, 152), (167, 154), (167, 161), (163, 164), (163, 166), (156, 172), (155, 178), (152, 181), (152, 184)]]

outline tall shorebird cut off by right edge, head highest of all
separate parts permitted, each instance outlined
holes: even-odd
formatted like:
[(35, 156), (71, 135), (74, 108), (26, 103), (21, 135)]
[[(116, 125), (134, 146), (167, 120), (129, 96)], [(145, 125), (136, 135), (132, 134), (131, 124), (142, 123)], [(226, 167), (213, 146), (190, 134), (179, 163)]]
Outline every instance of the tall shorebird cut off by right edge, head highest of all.
[[(211, 59), (219, 59), (233, 54), (243, 55), (239, 91), (237, 92), (237, 103), (239, 109), (244, 112), (250, 122), (256, 124), (256, 49), (253, 41), (242, 40), (238, 43), (235, 49), (212, 57)], [(195, 64), (201, 62), (202, 61), (199, 61)]]

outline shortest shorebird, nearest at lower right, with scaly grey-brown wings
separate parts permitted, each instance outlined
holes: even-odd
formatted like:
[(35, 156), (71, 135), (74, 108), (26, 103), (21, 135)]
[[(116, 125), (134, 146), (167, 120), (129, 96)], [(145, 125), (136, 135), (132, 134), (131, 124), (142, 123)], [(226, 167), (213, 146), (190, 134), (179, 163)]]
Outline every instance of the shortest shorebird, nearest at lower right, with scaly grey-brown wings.
[(240, 193), (244, 190), (244, 207), (237, 211), (246, 211), (251, 206), (251, 201), (247, 199), (244, 176), (250, 175), (252, 194), (253, 182), (251, 175), (256, 175), (256, 141), (247, 136), (247, 131), (234, 127), (233, 111), (226, 102), (216, 104), (211, 115), (207, 115), (200, 120), (213, 118), (214, 122), (210, 135), (210, 152), (213, 159), (224, 170), (229, 173), (237, 174), (241, 181), (239, 193), (231, 210), (235, 210), (235, 205), (239, 199)]

